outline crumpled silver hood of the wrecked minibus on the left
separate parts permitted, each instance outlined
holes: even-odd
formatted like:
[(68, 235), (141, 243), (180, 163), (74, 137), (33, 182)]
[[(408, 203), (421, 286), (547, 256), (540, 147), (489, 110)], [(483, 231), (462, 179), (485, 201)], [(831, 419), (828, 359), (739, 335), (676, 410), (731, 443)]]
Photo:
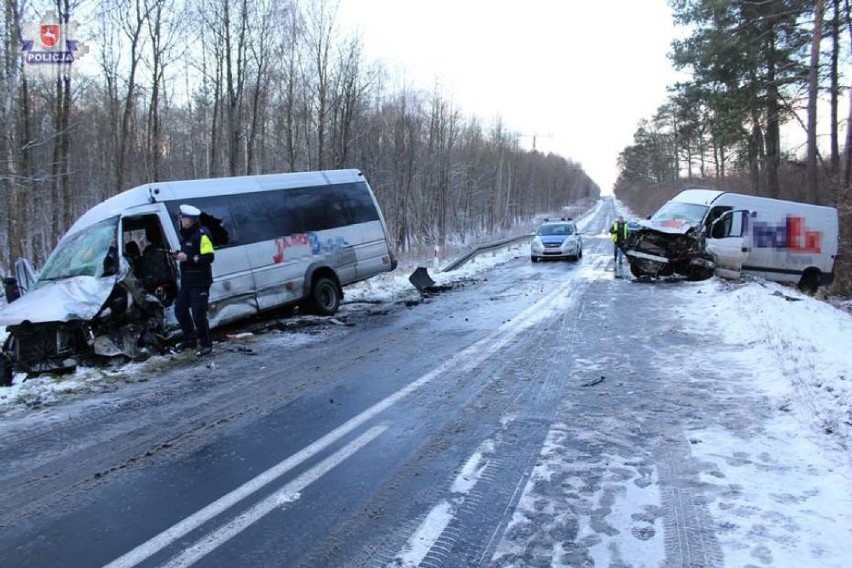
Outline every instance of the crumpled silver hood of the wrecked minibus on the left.
[(90, 320), (112, 293), (115, 276), (76, 276), (46, 282), (0, 310), (0, 325)]

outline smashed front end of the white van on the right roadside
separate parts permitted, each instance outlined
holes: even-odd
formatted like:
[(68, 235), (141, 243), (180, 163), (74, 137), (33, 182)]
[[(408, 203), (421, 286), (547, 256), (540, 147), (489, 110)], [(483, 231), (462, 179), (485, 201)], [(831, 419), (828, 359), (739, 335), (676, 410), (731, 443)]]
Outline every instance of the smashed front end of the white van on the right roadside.
[(705, 251), (704, 234), (689, 221), (639, 221), (624, 244), (630, 272), (636, 278), (680, 275), (689, 280), (713, 276), (713, 260)]

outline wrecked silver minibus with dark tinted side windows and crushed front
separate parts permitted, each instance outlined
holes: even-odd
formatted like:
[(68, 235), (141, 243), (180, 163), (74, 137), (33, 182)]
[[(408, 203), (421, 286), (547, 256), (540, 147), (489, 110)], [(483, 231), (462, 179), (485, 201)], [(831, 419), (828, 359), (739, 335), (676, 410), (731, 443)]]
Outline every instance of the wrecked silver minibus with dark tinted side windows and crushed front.
[(358, 170), (151, 183), (86, 212), (30, 290), (0, 311), (4, 377), (135, 359), (176, 328), (178, 208), (202, 211), (216, 260), (211, 328), (300, 305), (334, 314), (343, 287), (396, 268), (376, 198)]

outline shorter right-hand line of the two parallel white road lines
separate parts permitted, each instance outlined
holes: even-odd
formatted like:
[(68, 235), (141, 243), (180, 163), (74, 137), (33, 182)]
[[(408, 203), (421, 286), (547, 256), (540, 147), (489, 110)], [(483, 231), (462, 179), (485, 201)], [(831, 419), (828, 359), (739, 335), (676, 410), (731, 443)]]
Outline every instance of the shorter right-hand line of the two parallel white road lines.
[(299, 493), (308, 485), (378, 438), (385, 430), (387, 430), (387, 426), (385, 425), (370, 428), (344, 448), (327, 457), (269, 497), (257, 503), (248, 511), (242, 513), (216, 531), (204, 536), (201, 540), (169, 560), (163, 565), (163, 568), (187, 568), (188, 566), (192, 566), (275, 509), (296, 501), (299, 498)]

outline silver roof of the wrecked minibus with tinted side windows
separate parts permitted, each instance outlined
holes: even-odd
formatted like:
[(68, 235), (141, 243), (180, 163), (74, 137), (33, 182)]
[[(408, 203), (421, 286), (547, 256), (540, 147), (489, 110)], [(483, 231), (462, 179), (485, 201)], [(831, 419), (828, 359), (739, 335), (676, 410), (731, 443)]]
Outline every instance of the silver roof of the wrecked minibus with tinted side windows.
[(114, 195), (80, 216), (67, 235), (114, 217), (132, 207), (174, 200), (192, 200), (214, 195), (250, 193), (273, 189), (325, 185), (363, 180), (360, 170), (325, 170), (147, 183)]

